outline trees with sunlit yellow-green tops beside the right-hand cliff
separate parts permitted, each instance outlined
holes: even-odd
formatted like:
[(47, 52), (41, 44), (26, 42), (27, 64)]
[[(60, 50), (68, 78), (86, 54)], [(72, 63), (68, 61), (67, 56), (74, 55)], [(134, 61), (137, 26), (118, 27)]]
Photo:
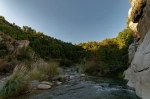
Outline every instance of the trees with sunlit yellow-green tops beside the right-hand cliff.
[(119, 76), (128, 67), (128, 47), (132, 42), (132, 31), (126, 28), (116, 38), (79, 44), (91, 52), (81, 70), (96, 76)]

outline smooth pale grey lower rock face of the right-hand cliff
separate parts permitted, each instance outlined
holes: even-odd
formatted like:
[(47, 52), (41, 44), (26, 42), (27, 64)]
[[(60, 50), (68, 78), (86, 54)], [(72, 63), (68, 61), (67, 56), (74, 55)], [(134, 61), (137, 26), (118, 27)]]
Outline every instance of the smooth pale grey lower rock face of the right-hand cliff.
[(143, 42), (139, 45), (134, 59), (125, 71), (128, 86), (135, 89), (136, 94), (143, 99), (149, 99), (150, 94), (150, 31), (146, 33)]

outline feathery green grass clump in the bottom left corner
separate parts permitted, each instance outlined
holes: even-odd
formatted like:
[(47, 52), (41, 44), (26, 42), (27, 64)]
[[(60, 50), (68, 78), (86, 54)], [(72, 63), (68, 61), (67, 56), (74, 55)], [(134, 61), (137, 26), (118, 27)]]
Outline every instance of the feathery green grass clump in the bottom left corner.
[(27, 69), (25, 66), (16, 66), (13, 74), (6, 80), (0, 90), (1, 98), (16, 96), (28, 89)]

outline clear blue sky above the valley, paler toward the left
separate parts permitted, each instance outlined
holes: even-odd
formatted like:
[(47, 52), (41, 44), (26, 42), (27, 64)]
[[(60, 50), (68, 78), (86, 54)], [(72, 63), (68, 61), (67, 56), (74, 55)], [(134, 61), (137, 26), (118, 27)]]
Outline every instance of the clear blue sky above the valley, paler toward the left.
[(0, 15), (10, 23), (73, 44), (116, 37), (129, 8), (129, 0), (0, 0)]

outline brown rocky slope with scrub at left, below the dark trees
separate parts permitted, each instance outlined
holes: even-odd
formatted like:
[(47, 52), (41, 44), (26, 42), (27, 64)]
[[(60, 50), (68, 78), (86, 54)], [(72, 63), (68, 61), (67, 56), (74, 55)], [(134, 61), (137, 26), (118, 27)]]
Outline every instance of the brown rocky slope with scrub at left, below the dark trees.
[[(32, 49), (26, 51), (25, 49), (28, 46), (28, 40), (15, 40), (9, 35), (0, 32), (0, 73), (11, 73), (18, 64), (30, 65), (31, 69), (47, 64)], [(22, 52), (20, 52), (21, 49)], [(23, 53), (22, 56), (20, 55), (21, 53)], [(26, 58), (30, 60), (25, 60)]]

